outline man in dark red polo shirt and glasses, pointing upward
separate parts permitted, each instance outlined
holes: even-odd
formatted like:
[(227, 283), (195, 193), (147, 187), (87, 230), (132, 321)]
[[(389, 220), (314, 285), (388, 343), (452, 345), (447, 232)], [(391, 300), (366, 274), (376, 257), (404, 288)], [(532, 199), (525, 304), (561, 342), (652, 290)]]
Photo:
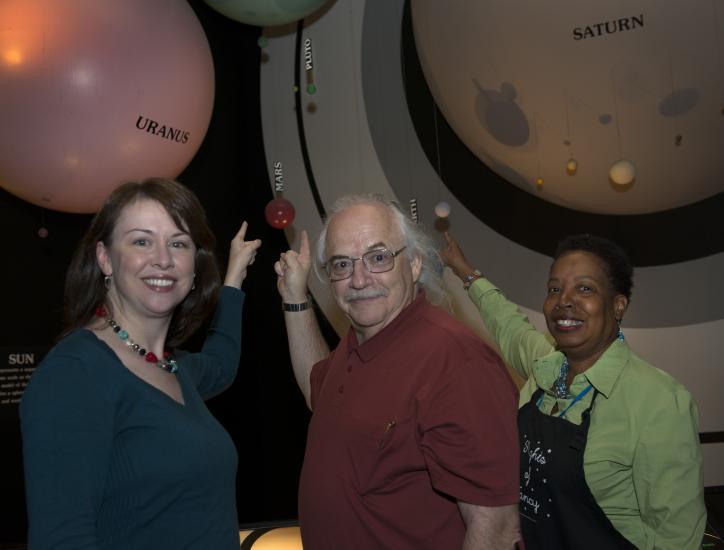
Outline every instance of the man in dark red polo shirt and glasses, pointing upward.
[(330, 353), (307, 298), (311, 265), (275, 264), (295, 376), (312, 420), (299, 487), (310, 550), (512, 549), (517, 390), (440, 302), (437, 253), (378, 196), (335, 205), (318, 272), (351, 328)]

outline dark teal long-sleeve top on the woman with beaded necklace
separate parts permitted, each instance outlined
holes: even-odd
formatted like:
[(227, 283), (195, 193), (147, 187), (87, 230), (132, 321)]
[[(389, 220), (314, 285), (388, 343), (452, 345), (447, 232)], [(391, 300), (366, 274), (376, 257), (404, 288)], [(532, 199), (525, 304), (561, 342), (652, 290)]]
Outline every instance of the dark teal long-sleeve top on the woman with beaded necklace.
[(204, 404), (234, 380), (242, 291), (224, 287), (200, 353), (177, 353), (185, 404), (91, 331), (55, 346), (20, 416), (33, 550), (238, 550), (234, 443)]

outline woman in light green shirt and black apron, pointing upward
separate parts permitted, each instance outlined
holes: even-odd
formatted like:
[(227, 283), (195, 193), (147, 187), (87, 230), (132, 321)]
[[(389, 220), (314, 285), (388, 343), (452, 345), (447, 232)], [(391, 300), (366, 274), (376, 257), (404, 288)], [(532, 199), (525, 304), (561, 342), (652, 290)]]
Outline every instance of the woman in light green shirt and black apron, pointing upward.
[(518, 429), (526, 548), (700, 548), (696, 404), (623, 337), (633, 286), (623, 250), (590, 235), (559, 244), (543, 304), (551, 341), (446, 239), (445, 263), (525, 379)]

